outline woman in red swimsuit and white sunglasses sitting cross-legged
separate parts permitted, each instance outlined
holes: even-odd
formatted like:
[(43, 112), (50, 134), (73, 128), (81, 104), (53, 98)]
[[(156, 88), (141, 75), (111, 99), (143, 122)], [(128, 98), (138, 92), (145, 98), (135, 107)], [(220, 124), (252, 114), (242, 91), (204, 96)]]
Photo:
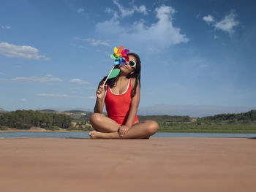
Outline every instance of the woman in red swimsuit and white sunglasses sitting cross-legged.
[[(140, 102), (140, 58), (128, 53), (129, 61), (118, 65), (120, 73), (113, 79), (106, 77), (99, 82), (97, 100), (90, 121), (94, 130), (92, 139), (148, 139), (157, 132), (159, 125), (154, 120), (139, 122), (137, 111)], [(102, 114), (104, 104), (108, 117)]]

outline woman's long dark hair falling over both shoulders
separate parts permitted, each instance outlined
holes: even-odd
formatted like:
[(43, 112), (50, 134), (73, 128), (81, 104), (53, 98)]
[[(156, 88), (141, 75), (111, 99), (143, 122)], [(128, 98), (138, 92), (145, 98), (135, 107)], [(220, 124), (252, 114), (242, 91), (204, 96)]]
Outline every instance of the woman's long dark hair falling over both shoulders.
[[(138, 86), (138, 82), (140, 83), (140, 69), (141, 69), (141, 65), (140, 65), (140, 57), (139, 55), (137, 55), (136, 53), (128, 53), (127, 55), (132, 55), (136, 58), (136, 67), (135, 67), (135, 71), (132, 74), (128, 74), (127, 75), (127, 79), (135, 77), (135, 86), (134, 88), (132, 88), (132, 97), (134, 97), (136, 95), (136, 88)], [(119, 69), (119, 65), (116, 65), (114, 67), (114, 69)], [(102, 81), (104, 82), (106, 80), (108, 76), (103, 77)], [(115, 82), (118, 80), (119, 74), (118, 76), (116, 76), (115, 78), (112, 79), (108, 79), (106, 84), (110, 87), (113, 88), (113, 86), (115, 85)]]

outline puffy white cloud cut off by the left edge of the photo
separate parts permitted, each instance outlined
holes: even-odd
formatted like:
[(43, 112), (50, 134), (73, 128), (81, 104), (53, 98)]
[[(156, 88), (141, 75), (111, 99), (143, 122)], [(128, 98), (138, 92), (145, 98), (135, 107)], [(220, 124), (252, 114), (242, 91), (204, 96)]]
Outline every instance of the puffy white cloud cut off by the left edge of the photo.
[(7, 42), (0, 42), (0, 54), (11, 58), (30, 58), (30, 59), (44, 59), (49, 60), (50, 58), (45, 58), (43, 55), (38, 54), (37, 48), (27, 46), (27, 45), (12, 45)]

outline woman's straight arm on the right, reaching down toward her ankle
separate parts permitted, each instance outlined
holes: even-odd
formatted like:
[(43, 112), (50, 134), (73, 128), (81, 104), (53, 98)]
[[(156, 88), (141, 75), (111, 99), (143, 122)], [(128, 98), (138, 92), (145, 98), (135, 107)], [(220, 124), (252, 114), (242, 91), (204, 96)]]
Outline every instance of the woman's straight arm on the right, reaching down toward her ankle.
[[(134, 83), (132, 84), (135, 85), (135, 80), (134, 80)], [(132, 103), (129, 110), (127, 123), (125, 123), (125, 125), (128, 126), (129, 128), (132, 126), (133, 121), (135, 120), (135, 117), (138, 112), (139, 104), (140, 104), (140, 82), (138, 81), (138, 85), (136, 88), (136, 95), (132, 97)]]

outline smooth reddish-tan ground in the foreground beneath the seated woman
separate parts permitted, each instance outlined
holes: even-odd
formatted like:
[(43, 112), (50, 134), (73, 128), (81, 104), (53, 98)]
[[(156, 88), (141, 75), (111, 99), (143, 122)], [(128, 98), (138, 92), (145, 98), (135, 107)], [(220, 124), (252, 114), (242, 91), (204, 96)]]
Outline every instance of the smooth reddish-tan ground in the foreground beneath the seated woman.
[(256, 139), (0, 139), (0, 191), (255, 191)]

